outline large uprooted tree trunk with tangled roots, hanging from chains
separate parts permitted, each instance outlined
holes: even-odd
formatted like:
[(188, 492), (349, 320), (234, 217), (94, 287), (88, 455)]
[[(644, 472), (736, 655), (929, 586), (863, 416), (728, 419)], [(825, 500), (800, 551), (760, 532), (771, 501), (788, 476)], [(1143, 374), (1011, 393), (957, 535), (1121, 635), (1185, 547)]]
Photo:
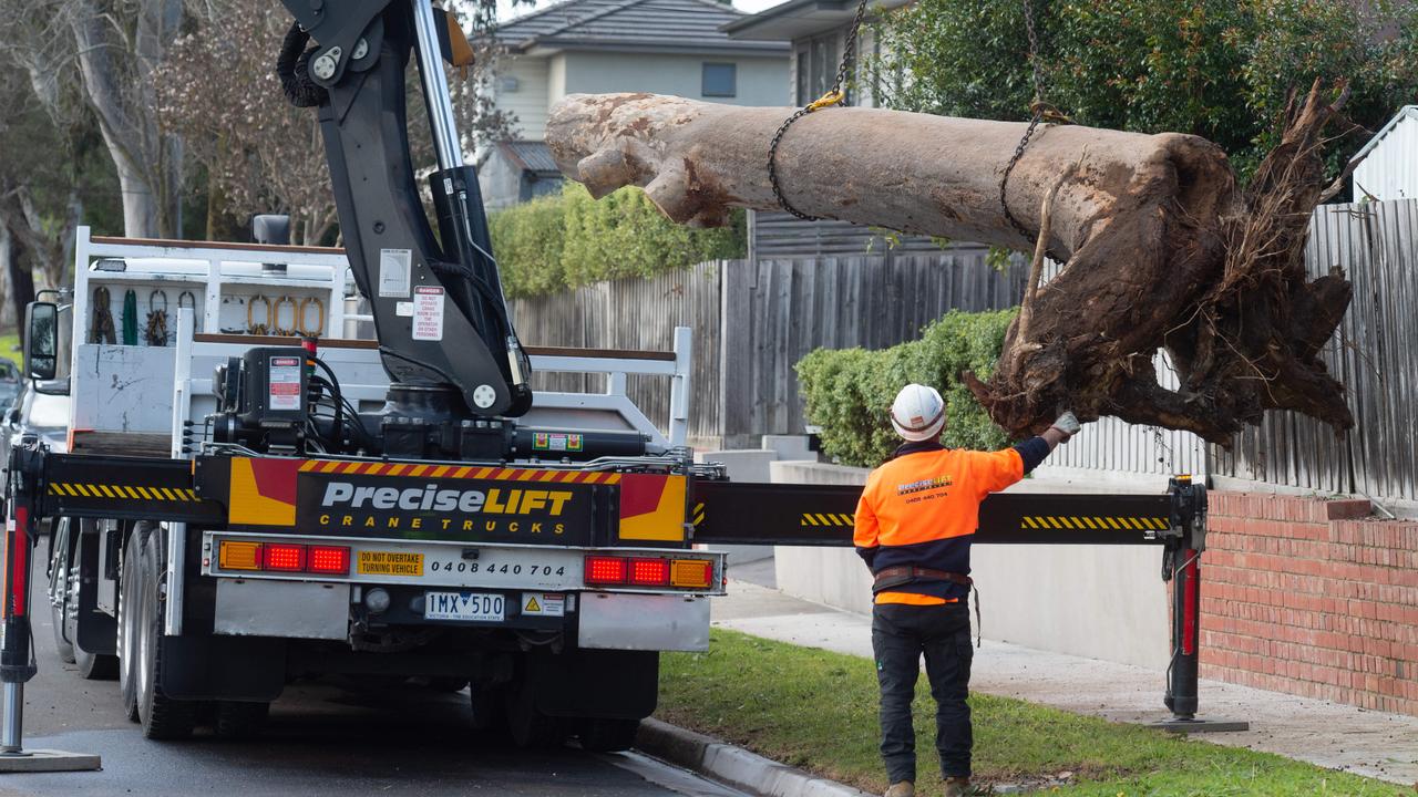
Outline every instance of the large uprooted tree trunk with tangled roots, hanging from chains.
[[(1316, 87), (1302, 111), (1286, 153), (1276, 153), (1288, 160), (1255, 194), (1239, 191), (1225, 153), (1197, 136), (1042, 125), (1007, 186), (1022, 231), (1000, 199), (1022, 123), (831, 108), (787, 132), (777, 172), (786, 199), (807, 214), (1018, 250), (1034, 247), (1044, 197), (1059, 183), (1044, 244), (1066, 265), (1034, 296), (1029, 339), (1011, 328), (988, 384), (966, 374), (967, 384), (1017, 435), (1072, 408), (1082, 420), (1117, 416), (1229, 444), (1272, 407), (1353, 423), (1343, 387), (1316, 357), (1349, 284), (1306, 282), (1297, 261), (1319, 196), (1297, 189), (1320, 177), (1319, 130), (1334, 108)], [(557, 166), (593, 196), (642, 186), (675, 221), (716, 225), (729, 207), (780, 207), (769, 147), (791, 112), (571, 95), (553, 108), (546, 139)], [(1282, 234), (1279, 260), (1246, 248), (1245, 231), (1262, 227)], [(1273, 299), (1238, 302), (1242, 291)], [(1161, 347), (1178, 364), (1178, 391), (1157, 384)]]

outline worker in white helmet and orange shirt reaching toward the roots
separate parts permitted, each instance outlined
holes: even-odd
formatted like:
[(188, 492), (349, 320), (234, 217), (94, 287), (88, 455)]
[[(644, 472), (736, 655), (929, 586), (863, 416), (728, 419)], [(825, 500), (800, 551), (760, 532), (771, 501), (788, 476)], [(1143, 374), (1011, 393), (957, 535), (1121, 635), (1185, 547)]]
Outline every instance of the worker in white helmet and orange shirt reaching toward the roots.
[[(933, 387), (908, 384), (891, 406), (905, 442), (866, 476), (854, 542), (871, 567), (875, 593), (872, 652), (881, 685), (886, 797), (916, 793), (916, 735), (910, 702), (920, 657), (936, 699), (936, 750), (946, 797), (970, 790), (970, 540), (980, 502), (1024, 478), (1079, 430), (1064, 413), (1044, 434), (1004, 451), (940, 445), (946, 403)], [(977, 604), (978, 608), (978, 604)]]

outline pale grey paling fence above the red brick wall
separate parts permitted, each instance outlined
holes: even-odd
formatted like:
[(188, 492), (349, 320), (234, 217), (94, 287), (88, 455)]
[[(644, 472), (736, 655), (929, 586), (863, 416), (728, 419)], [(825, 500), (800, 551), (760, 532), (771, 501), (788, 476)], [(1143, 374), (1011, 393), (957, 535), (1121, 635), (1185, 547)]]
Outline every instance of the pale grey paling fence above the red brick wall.
[(1349, 390), (1354, 428), (1269, 413), (1232, 452), (1212, 447), (1211, 472), (1375, 499), (1418, 501), (1418, 200), (1323, 206), (1310, 221), (1306, 265), (1332, 267), (1354, 301), (1324, 362)]

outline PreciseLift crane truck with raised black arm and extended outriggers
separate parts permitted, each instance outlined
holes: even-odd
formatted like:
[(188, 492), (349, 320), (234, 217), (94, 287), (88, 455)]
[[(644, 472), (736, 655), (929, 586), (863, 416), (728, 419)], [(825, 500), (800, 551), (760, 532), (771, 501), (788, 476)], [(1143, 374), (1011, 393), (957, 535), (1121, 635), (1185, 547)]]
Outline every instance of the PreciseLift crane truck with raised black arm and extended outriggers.
[[(659, 652), (709, 644), (726, 562), (699, 543), (851, 545), (856, 488), (735, 484), (695, 464), (688, 329), (665, 353), (525, 347), (462, 159), (444, 13), (284, 4), (278, 71), (319, 113), (345, 247), (84, 231), (68, 352), (60, 308), (30, 306), (26, 374), (67, 380), (75, 416), (68, 452), (28, 440), (9, 464), (0, 746), (18, 750), (34, 675), (27, 552), (57, 519), (61, 652), (85, 676), (116, 669), (150, 739), (208, 718), (248, 735), (292, 678), (377, 674), (468, 682), (474, 722), (519, 745), (624, 749), (654, 710)], [(411, 60), (431, 214), (410, 155)], [(346, 268), (372, 340), (342, 338)], [(115, 312), (147, 318), (145, 345), (129, 323), (116, 339)], [(608, 387), (533, 393), (533, 369)], [(627, 374), (672, 380), (668, 435), (627, 398)], [(980, 542), (1164, 546), (1178, 590), (1167, 705), (1185, 719), (1204, 518), (1204, 489), (1183, 481), (998, 495)]]

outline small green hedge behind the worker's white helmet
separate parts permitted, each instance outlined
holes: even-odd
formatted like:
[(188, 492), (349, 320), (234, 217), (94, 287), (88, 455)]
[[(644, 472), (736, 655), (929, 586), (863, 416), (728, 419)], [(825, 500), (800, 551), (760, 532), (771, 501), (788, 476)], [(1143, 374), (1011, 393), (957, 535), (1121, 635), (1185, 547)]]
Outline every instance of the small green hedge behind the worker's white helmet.
[(822, 451), (844, 465), (876, 467), (899, 444), (888, 413), (902, 386), (916, 381), (946, 400), (949, 447), (995, 450), (1008, 438), (970, 390), (963, 370), (988, 377), (1004, 333), (1018, 309), (968, 313), (950, 311), (926, 326), (919, 340), (868, 352), (817, 349), (797, 364), (808, 423), (821, 427)]

